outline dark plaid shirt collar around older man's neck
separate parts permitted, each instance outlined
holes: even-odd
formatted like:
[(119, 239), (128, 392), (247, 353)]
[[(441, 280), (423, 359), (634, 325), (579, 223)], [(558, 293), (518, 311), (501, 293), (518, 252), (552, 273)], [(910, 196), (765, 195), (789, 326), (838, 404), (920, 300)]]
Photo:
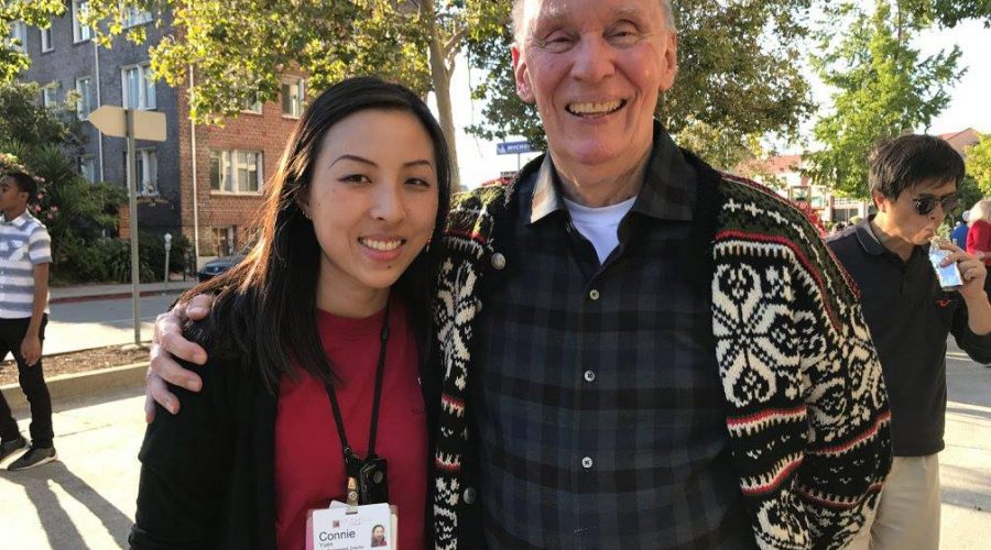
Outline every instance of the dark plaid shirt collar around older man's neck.
[[(661, 220), (690, 221), (697, 195), (696, 177), (695, 168), (655, 121), (654, 146), (632, 210)], [(558, 210), (566, 210), (566, 207), (554, 162), (547, 154), (534, 182), (530, 223)]]

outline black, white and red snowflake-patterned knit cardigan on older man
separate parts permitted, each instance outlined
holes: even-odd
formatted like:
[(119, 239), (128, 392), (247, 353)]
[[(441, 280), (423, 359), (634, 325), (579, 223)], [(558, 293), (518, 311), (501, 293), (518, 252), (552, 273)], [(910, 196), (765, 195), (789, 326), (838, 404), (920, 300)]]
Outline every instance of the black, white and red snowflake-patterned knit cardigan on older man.
[[(696, 224), (710, 212), (700, 241), (710, 248), (710, 265), (701, 276), (711, 279), (726, 426), (758, 546), (842, 548), (876, 505), (891, 466), (881, 365), (856, 286), (785, 200), (685, 154), (699, 173)], [(512, 218), (513, 187), (460, 196), (449, 218), (434, 306), (444, 375), (433, 487), (437, 549), (459, 543), (480, 280), (500, 250), (497, 226)]]

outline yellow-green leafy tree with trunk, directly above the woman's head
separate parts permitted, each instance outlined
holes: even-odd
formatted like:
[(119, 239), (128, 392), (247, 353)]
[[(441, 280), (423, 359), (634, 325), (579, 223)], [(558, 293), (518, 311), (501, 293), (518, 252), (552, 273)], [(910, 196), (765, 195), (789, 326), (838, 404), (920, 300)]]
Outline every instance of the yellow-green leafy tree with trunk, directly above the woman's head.
[[(171, 13), (173, 31), (151, 48), (153, 72), (190, 86), (194, 120), (220, 122), (255, 99), (274, 100), (287, 67), (325, 89), (378, 75), (422, 96), (434, 91), (456, 157), (450, 79), (468, 33), (493, 28), (505, 2), (491, 0), (90, 0), (87, 21), (104, 43), (145, 40), (123, 8)], [(162, 24), (163, 18), (156, 18)], [(190, 77), (192, 69), (192, 77)]]

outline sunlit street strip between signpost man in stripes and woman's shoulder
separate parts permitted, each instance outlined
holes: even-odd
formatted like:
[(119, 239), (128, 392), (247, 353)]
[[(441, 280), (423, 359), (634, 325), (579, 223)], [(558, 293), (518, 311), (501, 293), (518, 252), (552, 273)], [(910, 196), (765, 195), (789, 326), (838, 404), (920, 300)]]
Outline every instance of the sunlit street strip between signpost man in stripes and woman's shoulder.
[[(168, 309), (178, 294), (141, 298), (142, 340), (151, 340), (155, 316)], [(130, 298), (54, 304), (51, 310), (45, 355), (134, 342)]]

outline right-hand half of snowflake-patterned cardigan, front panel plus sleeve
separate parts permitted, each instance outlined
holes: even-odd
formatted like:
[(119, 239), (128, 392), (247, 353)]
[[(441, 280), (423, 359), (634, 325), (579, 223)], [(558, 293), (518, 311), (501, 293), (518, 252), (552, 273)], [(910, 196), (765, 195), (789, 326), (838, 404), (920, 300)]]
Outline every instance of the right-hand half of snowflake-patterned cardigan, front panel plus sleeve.
[(846, 547), (891, 468), (881, 364), (856, 287), (807, 219), (723, 186), (712, 280), (727, 428), (764, 549)]

